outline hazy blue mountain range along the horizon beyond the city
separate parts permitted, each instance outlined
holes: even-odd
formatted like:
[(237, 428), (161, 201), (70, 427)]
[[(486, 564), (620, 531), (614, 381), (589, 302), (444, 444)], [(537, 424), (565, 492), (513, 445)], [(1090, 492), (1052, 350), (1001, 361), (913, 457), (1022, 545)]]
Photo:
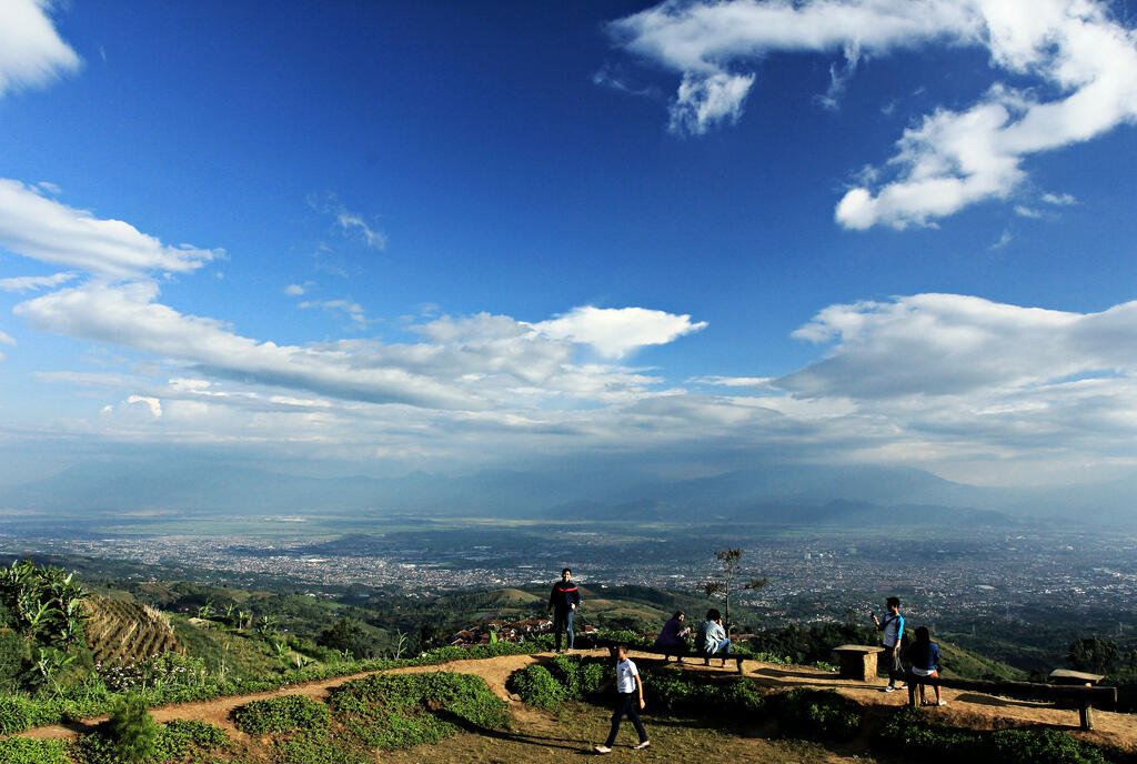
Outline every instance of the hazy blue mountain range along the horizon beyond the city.
[(1077, 517), (1137, 528), (1135, 496), (1137, 475), (1092, 485), (1010, 489), (955, 483), (911, 467), (871, 465), (764, 464), (697, 479), (616, 467), (309, 478), (163, 460), (73, 467), (50, 479), (2, 485), (0, 508), (64, 514), (409, 512), (708, 522), (856, 520), (858, 524), (886, 516), (930, 523)]

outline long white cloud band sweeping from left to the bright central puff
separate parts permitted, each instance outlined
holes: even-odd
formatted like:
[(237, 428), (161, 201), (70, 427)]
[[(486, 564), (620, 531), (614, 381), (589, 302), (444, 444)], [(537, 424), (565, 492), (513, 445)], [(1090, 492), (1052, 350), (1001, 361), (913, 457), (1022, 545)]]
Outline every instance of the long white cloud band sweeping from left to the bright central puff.
[(372, 404), (487, 410), (500, 406), (612, 402), (647, 395), (658, 380), (574, 360), (580, 344), (622, 355), (699, 329), (688, 316), (584, 308), (528, 324), (508, 316), (442, 317), (414, 327), (415, 343), (338, 340), (277, 346), (158, 301), (153, 281), (89, 282), (27, 300), (32, 326), (176, 362), (222, 379)]

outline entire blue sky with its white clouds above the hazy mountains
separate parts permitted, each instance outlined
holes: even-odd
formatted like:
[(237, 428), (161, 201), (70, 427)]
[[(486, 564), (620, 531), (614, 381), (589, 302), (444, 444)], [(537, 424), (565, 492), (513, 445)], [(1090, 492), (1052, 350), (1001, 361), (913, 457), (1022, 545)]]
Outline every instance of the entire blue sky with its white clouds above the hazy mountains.
[(1127, 14), (11, 0), (0, 480), (1129, 472)]

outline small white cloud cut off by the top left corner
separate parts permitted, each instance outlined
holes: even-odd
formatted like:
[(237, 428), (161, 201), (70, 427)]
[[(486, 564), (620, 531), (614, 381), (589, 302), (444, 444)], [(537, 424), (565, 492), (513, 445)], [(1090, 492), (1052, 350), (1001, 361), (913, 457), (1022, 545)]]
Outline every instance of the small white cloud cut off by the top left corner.
[(43, 85), (80, 66), (48, 11), (50, 0), (5, 0), (0, 23), (0, 97)]

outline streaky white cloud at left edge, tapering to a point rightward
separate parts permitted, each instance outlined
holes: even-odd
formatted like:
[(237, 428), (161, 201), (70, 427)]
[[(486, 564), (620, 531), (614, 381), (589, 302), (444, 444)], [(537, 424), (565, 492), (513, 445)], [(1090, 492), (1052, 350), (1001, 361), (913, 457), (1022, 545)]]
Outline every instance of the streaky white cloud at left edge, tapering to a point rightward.
[(186, 273), (219, 255), (164, 246), (128, 223), (97, 218), (7, 178), (0, 178), (0, 247), (116, 279), (151, 271)]

